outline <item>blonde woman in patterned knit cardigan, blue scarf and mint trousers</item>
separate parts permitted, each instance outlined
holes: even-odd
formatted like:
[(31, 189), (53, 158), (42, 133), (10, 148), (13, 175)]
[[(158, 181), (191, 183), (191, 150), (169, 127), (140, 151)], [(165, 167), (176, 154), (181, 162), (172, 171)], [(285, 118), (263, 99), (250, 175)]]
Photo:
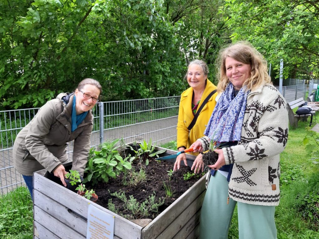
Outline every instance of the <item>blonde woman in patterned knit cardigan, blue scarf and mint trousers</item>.
[[(226, 239), (235, 205), (240, 239), (276, 239), (279, 154), (288, 138), (286, 101), (271, 84), (267, 62), (248, 42), (219, 54), (220, 97), (204, 137), (190, 147), (221, 147), (200, 216), (200, 238)], [(203, 164), (197, 157), (192, 170)]]

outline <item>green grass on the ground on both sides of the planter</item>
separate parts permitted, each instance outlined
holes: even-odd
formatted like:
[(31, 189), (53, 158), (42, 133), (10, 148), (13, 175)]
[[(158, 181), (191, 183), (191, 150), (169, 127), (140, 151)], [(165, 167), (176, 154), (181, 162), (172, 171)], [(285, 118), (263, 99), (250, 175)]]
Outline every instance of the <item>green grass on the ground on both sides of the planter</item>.
[[(302, 142), (307, 132), (307, 122), (299, 122), (297, 129), (290, 129), (287, 146), (281, 153), (281, 199), (275, 213), (278, 239), (319, 238), (319, 171), (306, 156)], [(171, 145), (172, 149), (176, 147), (174, 142)], [(0, 196), (0, 238), (31, 239), (32, 214), (26, 187)], [(237, 209), (228, 238), (238, 238)]]

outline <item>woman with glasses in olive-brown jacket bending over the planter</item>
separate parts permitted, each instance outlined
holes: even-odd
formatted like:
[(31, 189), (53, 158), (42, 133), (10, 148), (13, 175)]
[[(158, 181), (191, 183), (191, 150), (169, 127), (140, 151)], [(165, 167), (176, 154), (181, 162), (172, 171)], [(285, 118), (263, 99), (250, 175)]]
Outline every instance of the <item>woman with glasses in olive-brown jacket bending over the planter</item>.
[(67, 142), (74, 140), (72, 170), (85, 170), (93, 128), (91, 109), (99, 100), (102, 87), (86, 78), (74, 93), (61, 93), (43, 105), (19, 132), (13, 145), (13, 163), (22, 174), (33, 198), (33, 172), (47, 169), (64, 186)]

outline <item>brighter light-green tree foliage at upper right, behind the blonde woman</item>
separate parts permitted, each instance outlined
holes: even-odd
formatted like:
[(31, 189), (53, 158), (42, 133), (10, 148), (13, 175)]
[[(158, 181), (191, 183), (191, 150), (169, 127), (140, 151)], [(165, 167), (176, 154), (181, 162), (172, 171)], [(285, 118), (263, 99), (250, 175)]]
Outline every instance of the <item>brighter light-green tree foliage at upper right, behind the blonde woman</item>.
[(223, 9), (232, 40), (249, 40), (277, 68), (283, 59), (292, 78), (319, 77), (318, 10), (318, 1), (300, 0), (226, 0)]

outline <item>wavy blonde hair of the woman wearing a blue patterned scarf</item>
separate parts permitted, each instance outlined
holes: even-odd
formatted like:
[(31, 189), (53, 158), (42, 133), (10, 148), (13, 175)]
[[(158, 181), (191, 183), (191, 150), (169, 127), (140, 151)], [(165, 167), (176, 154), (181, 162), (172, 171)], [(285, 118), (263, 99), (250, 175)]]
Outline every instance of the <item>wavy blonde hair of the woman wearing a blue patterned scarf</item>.
[(263, 56), (248, 41), (239, 41), (219, 51), (216, 64), (219, 68), (218, 92), (225, 91), (230, 82), (226, 76), (225, 61), (227, 57), (250, 65), (251, 75), (243, 83), (243, 86), (247, 86), (247, 91), (256, 89), (265, 83), (271, 83), (271, 78), (267, 73), (267, 62)]

